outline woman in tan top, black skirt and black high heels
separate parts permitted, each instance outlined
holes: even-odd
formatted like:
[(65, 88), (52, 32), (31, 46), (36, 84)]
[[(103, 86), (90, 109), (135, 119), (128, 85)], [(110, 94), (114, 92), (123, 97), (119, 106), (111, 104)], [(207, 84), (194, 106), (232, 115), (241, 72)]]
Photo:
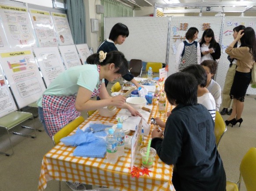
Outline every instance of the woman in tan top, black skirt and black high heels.
[[(233, 48), (235, 43), (240, 39), (241, 46)], [(242, 112), (244, 109), (244, 101), (246, 90), (251, 81), (251, 69), (253, 62), (256, 60), (256, 37), (255, 31), (251, 27), (246, 27), (238, 32), (237, 37), (227, 47), (225, 51), (229, 56), (237, 59), (234, 81), (230, 90), (230, 97), (233, 99), (232, 113), (225, 121), (226, 125), (235, 125), (239, 123), (239, 127), (243, 122)]]

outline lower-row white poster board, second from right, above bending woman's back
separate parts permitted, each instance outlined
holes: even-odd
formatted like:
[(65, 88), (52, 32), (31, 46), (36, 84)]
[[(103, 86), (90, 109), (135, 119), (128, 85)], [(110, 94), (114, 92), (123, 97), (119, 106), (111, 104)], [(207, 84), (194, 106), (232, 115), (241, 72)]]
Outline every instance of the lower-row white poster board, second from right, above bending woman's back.
[(81, 65), (75, 45), (59, 46), (59, 49), (66, 69)]

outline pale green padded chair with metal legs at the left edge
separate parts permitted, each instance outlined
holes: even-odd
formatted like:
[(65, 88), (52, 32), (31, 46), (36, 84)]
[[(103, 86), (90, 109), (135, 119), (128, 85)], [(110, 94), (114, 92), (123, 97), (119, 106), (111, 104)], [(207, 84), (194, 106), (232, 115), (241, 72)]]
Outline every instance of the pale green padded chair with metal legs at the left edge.
[(25, 122), (26, 120), (28, 120), (30, 118), (32, 118), (32, 121), (33, 121), (33, 128), (31, 128), (31, 129), (34, 130), (35, 135), (27, 135), (27, 134), (23, 134), (23, 133), (20, 133), (20, 132), (13, 132), (13, 131), (12, 131), (12, 133), (14, 135), (31, 137), (31, 138), (34, 139), (34, 138), (36, 138), (36, 129), (35, 129), (35, 126), (34, 126), (34, 118), (33, 118), (32, 113), (23, 112), (23, 111), (14, 111), (14, 112), (11, 112), (10, 114), (7, 114), (4, 117), (0, 118), (0, 127), (4, 128), (7, 131), (9, 141), (10, 141), (10, 145), (11, 145), (11, 150), (12, 150), (12, 153), (10, 153), (10, 154), (9, 153), (4, 153), (4, 152), (0, 152), (0, 153), (5, 154), (6, 156), (10, 156), (14, 153), (13, 152), (13, 147), (12, 147), (12, 144), (11, 144), (11, 137), (10, 137), (9, 131), (12, 128), (14, 128), (16, 125), (20, 125), (20, 124), (22, 124), (22, 122)]

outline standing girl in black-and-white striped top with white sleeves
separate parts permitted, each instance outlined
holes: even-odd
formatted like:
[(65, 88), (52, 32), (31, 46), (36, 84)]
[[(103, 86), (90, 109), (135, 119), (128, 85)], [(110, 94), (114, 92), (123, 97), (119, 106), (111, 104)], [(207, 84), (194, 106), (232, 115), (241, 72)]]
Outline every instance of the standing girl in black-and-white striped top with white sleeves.
[(186, 32), (186, 39), (178, 45), (175, 69), (180, 72), (185, 67), (191, 64), (201, 63), (200, 45), (195, 41), (197, 39), (198, 29), (191, 27)]

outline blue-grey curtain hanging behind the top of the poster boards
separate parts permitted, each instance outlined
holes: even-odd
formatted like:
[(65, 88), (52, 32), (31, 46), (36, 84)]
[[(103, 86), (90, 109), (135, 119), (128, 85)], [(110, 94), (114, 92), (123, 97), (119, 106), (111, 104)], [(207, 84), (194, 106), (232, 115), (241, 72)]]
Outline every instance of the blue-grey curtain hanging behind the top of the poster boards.
[(67, 0), (67, 16), (74, 44), (86, 43), (83, 0)]

